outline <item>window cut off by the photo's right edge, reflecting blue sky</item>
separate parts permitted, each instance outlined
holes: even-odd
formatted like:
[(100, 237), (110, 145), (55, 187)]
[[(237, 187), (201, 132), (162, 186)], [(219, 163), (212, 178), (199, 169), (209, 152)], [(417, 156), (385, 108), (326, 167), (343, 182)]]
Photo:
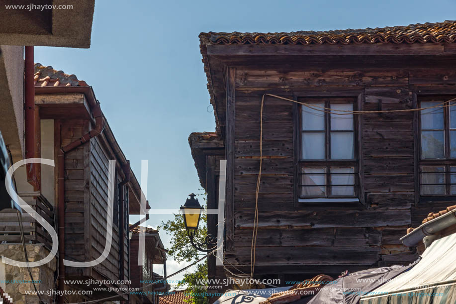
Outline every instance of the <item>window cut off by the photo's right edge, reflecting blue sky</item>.
[[(422, 100), (420, 107), (433, 107), (449, 97)], [(455, 102), (451, 102), (455, 104)], [(421, 110), (420, 194), (456, 195), (456, 108), (434, 107)]]

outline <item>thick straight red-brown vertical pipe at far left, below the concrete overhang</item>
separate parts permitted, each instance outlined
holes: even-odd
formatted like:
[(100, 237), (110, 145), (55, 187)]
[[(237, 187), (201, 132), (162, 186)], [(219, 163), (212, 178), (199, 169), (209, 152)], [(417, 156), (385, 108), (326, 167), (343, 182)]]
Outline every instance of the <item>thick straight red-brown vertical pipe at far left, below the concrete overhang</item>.
[[(25, 123), (25, 158), (35, 157), (35, 66), (33, 46), (25, 46), (24, 60), (24, 123)], [(40, 190), (36, 164), (27, 164), (27, 182), (34, 191)]]

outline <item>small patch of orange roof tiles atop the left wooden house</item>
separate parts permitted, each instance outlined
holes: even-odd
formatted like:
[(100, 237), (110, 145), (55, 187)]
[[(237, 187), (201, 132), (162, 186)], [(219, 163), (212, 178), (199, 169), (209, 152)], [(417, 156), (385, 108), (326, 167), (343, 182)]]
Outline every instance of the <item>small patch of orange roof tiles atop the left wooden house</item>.
[(35, 87), (88, 87), (88, 84), (74, 74), (68, 75), (51, 66), (35, 63)]

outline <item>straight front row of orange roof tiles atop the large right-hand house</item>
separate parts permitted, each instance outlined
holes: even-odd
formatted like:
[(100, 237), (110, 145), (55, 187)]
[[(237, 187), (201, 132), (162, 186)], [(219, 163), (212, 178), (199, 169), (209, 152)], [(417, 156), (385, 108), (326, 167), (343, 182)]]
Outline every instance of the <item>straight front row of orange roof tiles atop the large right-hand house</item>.
[(417, 23), (408, 26), (296, 31), (290, 33), (224, 33), (199, 35), (201, 44), (361, 44), (361, 43), (441, 43), (456, 41), (456, 21)]

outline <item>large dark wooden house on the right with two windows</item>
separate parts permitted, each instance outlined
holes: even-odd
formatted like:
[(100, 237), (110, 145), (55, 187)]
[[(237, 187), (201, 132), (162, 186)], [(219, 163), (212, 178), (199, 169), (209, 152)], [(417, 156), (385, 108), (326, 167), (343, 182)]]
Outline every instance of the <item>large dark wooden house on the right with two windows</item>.
[(399, 238), (456, 201), (456, 22), (199, 38), (216, 130), (189, 141), (208, 206), (227, 160), (224, 266), (251, 273), (261, 153), (255, 278), (417, 259)]

